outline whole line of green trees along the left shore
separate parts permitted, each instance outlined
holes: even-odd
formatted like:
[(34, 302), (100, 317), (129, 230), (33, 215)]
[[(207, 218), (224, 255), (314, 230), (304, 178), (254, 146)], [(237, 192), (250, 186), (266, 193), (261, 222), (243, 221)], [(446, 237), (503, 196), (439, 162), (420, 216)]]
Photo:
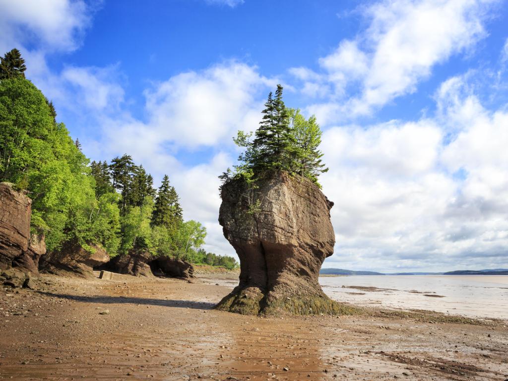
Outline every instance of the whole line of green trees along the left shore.
[[(0, 181), (33, 200), (31, 229), (48, 250), (104, 247), (111, 257), (145, 250), (193, 263), (236, 266), (201, 248), (206, 229), (184, 221), (179, 197), (164, 176), (153, 177), (130, 155), (92, 162), (73, 141), (42, 92), (25, 79), (18, 50), (0, 62)], [(204, 252), (204, 253), (203, 253)], [(211, 263), (213, 262), (213, 263)]]

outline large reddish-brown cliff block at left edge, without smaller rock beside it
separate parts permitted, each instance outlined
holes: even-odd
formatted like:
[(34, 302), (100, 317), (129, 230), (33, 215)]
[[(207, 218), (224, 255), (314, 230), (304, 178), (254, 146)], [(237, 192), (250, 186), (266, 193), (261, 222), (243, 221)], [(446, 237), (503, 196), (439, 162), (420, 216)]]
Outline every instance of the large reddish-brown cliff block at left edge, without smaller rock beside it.
[(13, 261), (28, 249), (31, 200), (9, 183), (0, 183), (0, 270), (13, 267)]

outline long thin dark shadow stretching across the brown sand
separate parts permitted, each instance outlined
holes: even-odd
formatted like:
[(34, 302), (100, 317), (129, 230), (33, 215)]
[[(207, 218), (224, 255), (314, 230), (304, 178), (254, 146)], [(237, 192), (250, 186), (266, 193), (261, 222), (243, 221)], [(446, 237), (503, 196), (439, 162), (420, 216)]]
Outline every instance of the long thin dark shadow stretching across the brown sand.
[(152, 306), (194, 308), (194, 309), (212, 309), (215, 303), (196, 302), (193, 300), (162, 300), (151, 298), (134, 298), (126, 296), (79, 296), (68, 294), (54, 294), (38, 291), (38, 294), (52, 296), (55, 298), (69, 299), (84, 303), (105, 303), (105, 304), (144, 304)]

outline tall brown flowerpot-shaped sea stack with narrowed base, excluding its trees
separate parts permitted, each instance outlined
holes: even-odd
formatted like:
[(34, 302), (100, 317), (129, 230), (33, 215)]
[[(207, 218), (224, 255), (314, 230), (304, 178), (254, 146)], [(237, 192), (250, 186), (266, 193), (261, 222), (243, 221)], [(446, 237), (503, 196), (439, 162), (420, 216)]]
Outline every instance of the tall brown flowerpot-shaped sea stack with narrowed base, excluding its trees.
[(352, 313), (318, 282), (333, 253), (333, 203), (311, 181), (266, 175), (255, 187), (230, 180), (221, 190), (219, 224), (240, 258), (240, 283), (217, 308), (243, 314)]

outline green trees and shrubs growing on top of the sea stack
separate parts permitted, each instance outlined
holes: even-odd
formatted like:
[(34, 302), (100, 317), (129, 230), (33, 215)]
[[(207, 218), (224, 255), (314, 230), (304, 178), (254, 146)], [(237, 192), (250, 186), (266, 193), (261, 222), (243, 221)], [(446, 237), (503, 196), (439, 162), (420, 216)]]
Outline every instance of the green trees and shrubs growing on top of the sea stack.
[[(305, 119), (300, 110), (285, 107), (281, 85), (277, 85), (275, 97), (270, 92), (262, 113), (260, 126), (253, 136), (239, 131), (233, 139), (245, 150), (238, 157), (239, 164), (234, 166), (234, 171), (228, 168), (219, 176), (222, 184), (231, 178), (241, 178), (252, 189), (262, 173), (284, 171), (306, 177), (320, 186), (317, 177), (328, 168), (321, 160), (322, 132), (315, 116)], [(249, 212), (255, 213), (258, 202), (249, 201)]]

